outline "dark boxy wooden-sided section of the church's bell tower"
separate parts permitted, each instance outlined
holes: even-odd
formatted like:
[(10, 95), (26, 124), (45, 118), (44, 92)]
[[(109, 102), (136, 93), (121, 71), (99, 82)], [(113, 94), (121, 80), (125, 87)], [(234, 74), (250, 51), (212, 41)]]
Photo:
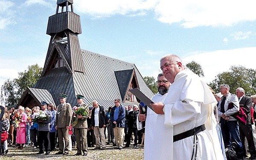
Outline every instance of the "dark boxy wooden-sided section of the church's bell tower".
[(82, 33), (79, 15), (66, 11), (49, 17), (46, 34), (52, 35), (67, 29), (73, 33)]

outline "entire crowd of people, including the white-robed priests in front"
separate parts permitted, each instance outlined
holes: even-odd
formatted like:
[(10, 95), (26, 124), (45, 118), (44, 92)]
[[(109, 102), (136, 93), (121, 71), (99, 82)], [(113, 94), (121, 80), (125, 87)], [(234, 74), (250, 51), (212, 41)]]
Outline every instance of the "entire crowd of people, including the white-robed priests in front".
[(85, 104), (84, 95), (76, 95), (72, 107), (65, 94), (57, 107), (45, 101), (32, 109), (0, 106), (0, 155), (15, 143), (46, 155), (53, 150), (67, 155), (76, 146), (76, 156), (87, 156), (88, 147), (121, 150), (132, 141), (136, 149), (145, 134), (145, 160), (228, 160), (225, 147), (231, 144), (238, 160), (256, 159), (256, 95), (246, 96), (241, 87), (232, 94), (228, 84), (215, 94), (173, 54), (160, 59), (160, 69), (158, 93), (145, 113), (137, 105), (122, 106), (119, 98), (106, 112), (96, 100)]

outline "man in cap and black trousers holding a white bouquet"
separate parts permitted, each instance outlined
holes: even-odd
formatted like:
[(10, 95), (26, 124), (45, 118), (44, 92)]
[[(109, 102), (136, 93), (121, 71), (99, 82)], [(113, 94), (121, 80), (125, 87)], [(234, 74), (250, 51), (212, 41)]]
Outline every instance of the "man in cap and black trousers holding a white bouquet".
[(40, 120), (38, 121), (38, 144), (39, 144), (39, 152), (37, 154), (42, 154), (44, 153), (45, 149), (45, 154), (48, 155), (50, 154), (51, 148), (50, 148), (50, 128), (49, 128), (49, 123), (52, 120), (52, 112), (47, 110), (47, 102), (41, 101), (41, 109), (42, 111), (48, 115), (47, 120)]

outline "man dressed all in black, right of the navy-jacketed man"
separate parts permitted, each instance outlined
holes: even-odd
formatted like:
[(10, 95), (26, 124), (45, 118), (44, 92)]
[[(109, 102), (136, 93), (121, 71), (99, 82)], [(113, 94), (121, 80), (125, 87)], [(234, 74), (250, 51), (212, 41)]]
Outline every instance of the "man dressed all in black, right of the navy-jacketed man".
[(127, 115), (128, 120), (128, 139), (125, 144), (125, 147), (129, 147), (131, 143), (131, 135), (134, 133), (134, 148), (137, 148), (137, 137), (138, 137), (138, 129), (137, 129), (137, 116), (139, 114), (138, 106), (133, 106), (133, 111), (129, 112)]

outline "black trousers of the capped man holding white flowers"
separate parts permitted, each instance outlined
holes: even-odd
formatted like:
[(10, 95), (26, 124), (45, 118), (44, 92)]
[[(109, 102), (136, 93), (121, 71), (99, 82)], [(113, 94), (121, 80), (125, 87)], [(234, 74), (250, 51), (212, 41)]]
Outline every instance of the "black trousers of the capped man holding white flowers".
[(38, 131), (38, 145), (39, 145), (39, 151), (50, 152), (50, 132), (49, 131)]

